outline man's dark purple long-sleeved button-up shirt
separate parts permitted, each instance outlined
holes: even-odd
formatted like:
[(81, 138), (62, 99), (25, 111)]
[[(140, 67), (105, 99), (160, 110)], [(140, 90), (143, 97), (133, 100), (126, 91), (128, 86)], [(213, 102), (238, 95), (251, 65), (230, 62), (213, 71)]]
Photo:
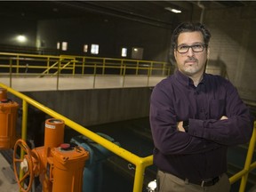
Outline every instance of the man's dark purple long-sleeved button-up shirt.
[[(188, 132), (178, 131), (177, 123), (186, 120)], [(228, 146), (248, 142), (253, 126), (249, 109), (228, 80), (204, 74), (195, 86), (180, 71), (156, 84), (150, 124), (156, 166), (190, 180), (227, 172)]]

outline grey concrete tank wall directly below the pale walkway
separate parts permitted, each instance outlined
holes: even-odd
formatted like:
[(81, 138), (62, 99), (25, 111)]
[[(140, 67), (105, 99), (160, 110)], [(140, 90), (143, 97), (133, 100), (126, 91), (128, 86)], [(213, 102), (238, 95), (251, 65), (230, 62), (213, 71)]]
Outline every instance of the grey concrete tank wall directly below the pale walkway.
[(23, 93), (86, 127), (148, 116), (151, 89), (125, 88)]

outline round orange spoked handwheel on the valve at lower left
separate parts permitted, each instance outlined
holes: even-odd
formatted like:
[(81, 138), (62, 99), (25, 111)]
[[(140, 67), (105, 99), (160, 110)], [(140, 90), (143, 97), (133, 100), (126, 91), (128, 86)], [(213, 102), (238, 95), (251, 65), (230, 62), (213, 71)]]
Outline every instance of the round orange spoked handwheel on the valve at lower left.
[[(17, 157), (17, 151), (24, 151), (24, 157)], [(17, 168), (20, 167), (20, 174), (18, 173)], [(31, 150), (28, 148), (27, 143), (24, 140), (17, 140), (14, 145), (13, 151), (13, 169), (14, 175), (22, 192), (28, 192), (31, 189), (34, 173), (33, 173), (33, 161), (31, 156)], [(25, 180), (28, 181), (28, 185), (24, 185)]]

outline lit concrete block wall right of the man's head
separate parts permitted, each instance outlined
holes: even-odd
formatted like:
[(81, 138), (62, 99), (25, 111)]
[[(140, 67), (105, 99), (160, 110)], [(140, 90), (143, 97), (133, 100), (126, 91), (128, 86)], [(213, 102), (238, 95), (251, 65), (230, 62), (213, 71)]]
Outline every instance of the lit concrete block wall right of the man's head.
[(226, 70), (226, 76), (235, 84), (243, 99), (254, 101), (256, 101), (255, 19), (255, 7), (206, 11), (204, 16), (204, 23), (212, 32), (210, 59), (220, 62), (220, 67)]

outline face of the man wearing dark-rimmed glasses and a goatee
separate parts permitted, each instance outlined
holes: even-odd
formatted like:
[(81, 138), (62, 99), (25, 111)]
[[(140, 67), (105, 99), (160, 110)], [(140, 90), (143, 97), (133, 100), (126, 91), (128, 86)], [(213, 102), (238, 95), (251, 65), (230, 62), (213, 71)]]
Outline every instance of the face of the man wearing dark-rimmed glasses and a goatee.
[(174, 57), (180, 72), (186, 76), (201, 76), (204, 73), (204, 66), (208, 55), (208, 51), (204, 47), (204, 36), (202, 33), (199, 31), (180, 33), (177, 47), (174, 50)]

